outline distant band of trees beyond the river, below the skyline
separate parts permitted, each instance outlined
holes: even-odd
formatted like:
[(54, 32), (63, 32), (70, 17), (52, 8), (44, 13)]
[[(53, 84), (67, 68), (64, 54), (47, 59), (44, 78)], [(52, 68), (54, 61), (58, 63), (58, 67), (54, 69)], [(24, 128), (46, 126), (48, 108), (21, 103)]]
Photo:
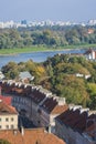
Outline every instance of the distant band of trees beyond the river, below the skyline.
[(34, 27), (0, 29), (0, 49), (32, 45), (64, 47), (96, 43), (95, 27)]

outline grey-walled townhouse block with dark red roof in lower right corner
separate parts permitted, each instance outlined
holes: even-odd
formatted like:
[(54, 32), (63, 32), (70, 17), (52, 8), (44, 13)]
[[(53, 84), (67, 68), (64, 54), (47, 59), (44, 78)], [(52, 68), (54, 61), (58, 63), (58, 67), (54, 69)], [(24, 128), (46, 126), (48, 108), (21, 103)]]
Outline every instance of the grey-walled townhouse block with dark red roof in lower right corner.
[(96, 114), (81, 105), (72, 106), (56, 117), (56, 135), (67, 144), (96, 144)]

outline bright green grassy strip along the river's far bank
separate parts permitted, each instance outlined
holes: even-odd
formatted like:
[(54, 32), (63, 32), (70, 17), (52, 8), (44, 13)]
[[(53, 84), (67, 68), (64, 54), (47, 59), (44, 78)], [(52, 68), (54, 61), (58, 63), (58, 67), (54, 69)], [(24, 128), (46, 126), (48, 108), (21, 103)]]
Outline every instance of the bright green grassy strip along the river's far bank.
[(47, 47), (30, 47), (30, 48), (13, 48), (13, 49), (1, 49), (1, 54), (18, 54), (18, 53), (28, 53), (28, 52), (39, 52), (39, 51), (57, 51), (57, 50), (67, 50), (67, 49), (88, 49), (96, 48), (96, 44), (85, 44), (85, 45), (66, 45), (62, 48), (47, 48)]

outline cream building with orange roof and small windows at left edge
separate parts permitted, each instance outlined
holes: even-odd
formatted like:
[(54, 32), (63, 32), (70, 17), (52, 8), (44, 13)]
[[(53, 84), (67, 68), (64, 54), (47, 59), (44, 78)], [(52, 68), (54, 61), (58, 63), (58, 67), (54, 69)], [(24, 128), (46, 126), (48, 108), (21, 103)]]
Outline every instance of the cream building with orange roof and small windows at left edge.
[(0, 100), (0, 130), (17, 130), (18, 112), (11, 105)]

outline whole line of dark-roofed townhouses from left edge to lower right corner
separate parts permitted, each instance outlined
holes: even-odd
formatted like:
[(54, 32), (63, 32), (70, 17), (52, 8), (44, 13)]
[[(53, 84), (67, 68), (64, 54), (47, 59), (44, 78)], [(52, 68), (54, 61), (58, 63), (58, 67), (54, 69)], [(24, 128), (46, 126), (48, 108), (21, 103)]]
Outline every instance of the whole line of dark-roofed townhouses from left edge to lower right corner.
[(42, 86), (1, 82), (2, 94), (12, 95), (12, 105), (38, 127), (46, 127), (66, 144), (96, 144), (96, 112), (67, 105)]

